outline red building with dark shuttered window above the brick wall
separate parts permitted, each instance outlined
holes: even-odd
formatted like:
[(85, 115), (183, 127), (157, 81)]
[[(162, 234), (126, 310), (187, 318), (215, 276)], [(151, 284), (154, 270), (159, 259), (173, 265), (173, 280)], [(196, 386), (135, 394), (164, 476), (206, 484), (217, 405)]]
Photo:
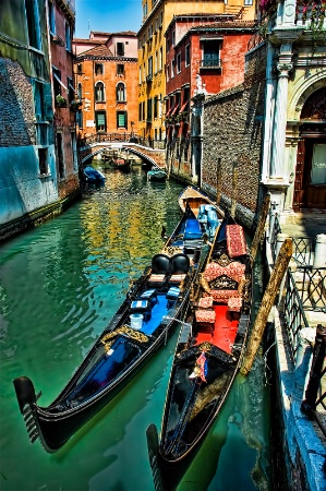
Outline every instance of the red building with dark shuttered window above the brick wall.
[[(206, 23), (205, 23), (206, 22)], [(167, 27), (166, 113), (167, 164), (191, 175), (191, 98), (198, 84), (206, 96), (244, 80), (244, 55), (255, 32), (254, 21), (234, 15), (176, 15)]]

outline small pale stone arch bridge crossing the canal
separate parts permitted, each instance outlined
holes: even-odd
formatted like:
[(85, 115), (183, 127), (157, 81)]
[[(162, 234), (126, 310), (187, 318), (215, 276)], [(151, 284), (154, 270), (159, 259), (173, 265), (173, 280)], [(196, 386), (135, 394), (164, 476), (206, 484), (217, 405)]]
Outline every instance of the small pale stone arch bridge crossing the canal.
[(134, 155), (137, 155), (153, 167), (158, 167), (160, 169), (166, 167), (165, 149), (148, 148), (146, 146), (130, 142), (93, 142), (81, 146), (79, 148), (79, 153), (82, 165), (85, 165), (87, 160), (95, 157), (95, 155), (100, 154), (104, 149), (128, 151)]

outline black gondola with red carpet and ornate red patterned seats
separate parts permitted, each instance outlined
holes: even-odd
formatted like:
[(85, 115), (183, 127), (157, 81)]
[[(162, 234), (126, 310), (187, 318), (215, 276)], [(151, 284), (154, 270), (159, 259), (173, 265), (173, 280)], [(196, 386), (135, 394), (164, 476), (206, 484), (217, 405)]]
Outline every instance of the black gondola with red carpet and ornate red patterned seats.
[(160, 438), (147, 429), (159, 491), (177, 488), (228, 397), (250, 325), (252, 261), (243, 228), (226, 216), (180, 331)]

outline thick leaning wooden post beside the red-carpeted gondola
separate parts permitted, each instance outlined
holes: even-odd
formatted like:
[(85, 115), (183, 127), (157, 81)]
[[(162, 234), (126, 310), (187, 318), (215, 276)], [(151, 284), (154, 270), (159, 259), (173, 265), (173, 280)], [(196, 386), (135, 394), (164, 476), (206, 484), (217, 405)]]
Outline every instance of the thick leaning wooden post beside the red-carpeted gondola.
[(247, 373), (251, 371), (254, 358), (263, 338), (268, 314), (274, 304), (275, 298), (277, 296), (283, 275), (288, 268), (291, 256), (292, 239), (288, 238), (285, 240), (279, 251), (268, 285), (263, 296), (261, 308), (258, 310), (255, 324), (251, 333), (245, 357), (240, 369), (240, 373), (242, 375), (247, 375)]

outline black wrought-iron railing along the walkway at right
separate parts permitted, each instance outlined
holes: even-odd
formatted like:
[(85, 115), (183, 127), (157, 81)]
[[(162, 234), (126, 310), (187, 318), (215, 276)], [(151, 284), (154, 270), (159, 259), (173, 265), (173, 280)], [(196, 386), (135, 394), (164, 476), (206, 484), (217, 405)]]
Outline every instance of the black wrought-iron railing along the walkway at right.
[[(274, 262), (277, 255), (277, 236), (281, 227), (277, 214), (271, 215), (269, 244)], [(304, 327), (310, 327), (306, 311), (326, 312), (326, 267), (313, 267), (315, 239), (292, 239), (292, 256), (297, 263), (295, 273), (288, 268), (285, 280), (283, 304), (280, 315), (283, 320), (290, 357), (297, 363), (300, 335)], [(301, 410), (314, 419), (326, 436), (326, 326), (317, 325), (309, 381), (305, 387)], [(326, 464), (325, 464), (326, 465)]]

